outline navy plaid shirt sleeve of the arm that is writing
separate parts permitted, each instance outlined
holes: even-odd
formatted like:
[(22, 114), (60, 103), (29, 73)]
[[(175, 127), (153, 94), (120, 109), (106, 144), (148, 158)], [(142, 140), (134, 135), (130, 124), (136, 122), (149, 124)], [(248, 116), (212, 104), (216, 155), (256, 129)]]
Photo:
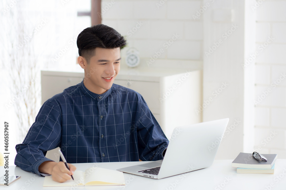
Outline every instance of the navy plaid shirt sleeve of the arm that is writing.
[(45, 161), (44, 152), (52, 150), (61, 142), (61, 112), (58, 106), (46, 101), (29, 129), (22, 144), (16, 145), (15, 165), (25, 171), (42, 175), (39, 166)]

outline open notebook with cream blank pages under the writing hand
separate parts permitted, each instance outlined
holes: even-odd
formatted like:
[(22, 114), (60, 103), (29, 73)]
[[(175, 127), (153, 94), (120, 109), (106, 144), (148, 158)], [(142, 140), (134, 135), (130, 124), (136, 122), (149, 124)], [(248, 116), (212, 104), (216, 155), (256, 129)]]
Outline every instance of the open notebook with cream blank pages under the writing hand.
[(93, 185), (125, 185), (121, 171), (105, 169), (101, 167), (90, 167), (85, 172), (76, 170), (74, 180), (59, 183), (53, 181), (52, 176), (45, 176), (43, 187), (57, 186), (93, 186)]

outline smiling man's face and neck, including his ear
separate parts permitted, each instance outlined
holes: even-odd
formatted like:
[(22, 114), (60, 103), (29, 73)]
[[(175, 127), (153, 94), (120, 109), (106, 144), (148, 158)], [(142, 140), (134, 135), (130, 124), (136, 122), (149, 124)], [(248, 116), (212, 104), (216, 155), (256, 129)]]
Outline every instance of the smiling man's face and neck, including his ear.
[(120, 48), (96, 48), (95, 56), (84, 67), (84, 85), (96, 94), (105, 93), (111, 88), (120, 71)]

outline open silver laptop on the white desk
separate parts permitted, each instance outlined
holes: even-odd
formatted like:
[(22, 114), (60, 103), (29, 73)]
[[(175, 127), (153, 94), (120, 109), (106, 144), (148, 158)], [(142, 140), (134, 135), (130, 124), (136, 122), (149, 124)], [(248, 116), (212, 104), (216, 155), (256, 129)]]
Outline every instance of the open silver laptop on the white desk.
[(163, 160), (117, 169), (162, 179), (212, 165), (229, 119), (176, 127)]

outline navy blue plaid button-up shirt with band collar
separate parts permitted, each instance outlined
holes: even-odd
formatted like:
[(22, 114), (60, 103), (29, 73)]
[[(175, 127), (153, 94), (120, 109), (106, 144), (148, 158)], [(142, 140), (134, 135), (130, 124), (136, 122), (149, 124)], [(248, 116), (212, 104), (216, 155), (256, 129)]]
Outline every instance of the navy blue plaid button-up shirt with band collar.
[(113, 84), (99, 95), (82, 81), (43, 104), (16, 145), (15, 165), (41, 175), (46, 151), (56, 147), (68, 163), (161, 160), (168, 142), (139, 93)]

